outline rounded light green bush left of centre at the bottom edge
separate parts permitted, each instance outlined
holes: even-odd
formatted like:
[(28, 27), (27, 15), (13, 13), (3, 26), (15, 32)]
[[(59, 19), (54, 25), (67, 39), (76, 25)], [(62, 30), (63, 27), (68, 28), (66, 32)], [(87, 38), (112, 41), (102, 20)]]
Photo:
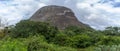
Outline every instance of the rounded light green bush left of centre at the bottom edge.
[[(42, 35), (39, 36), (31, 36), (24, 40), (27, 44), (28, 51), (38, 51), (42, 47), (42, 44), (46, 43), (45, 37)], [(41, 44), (42, 43), (42, 44)]]

